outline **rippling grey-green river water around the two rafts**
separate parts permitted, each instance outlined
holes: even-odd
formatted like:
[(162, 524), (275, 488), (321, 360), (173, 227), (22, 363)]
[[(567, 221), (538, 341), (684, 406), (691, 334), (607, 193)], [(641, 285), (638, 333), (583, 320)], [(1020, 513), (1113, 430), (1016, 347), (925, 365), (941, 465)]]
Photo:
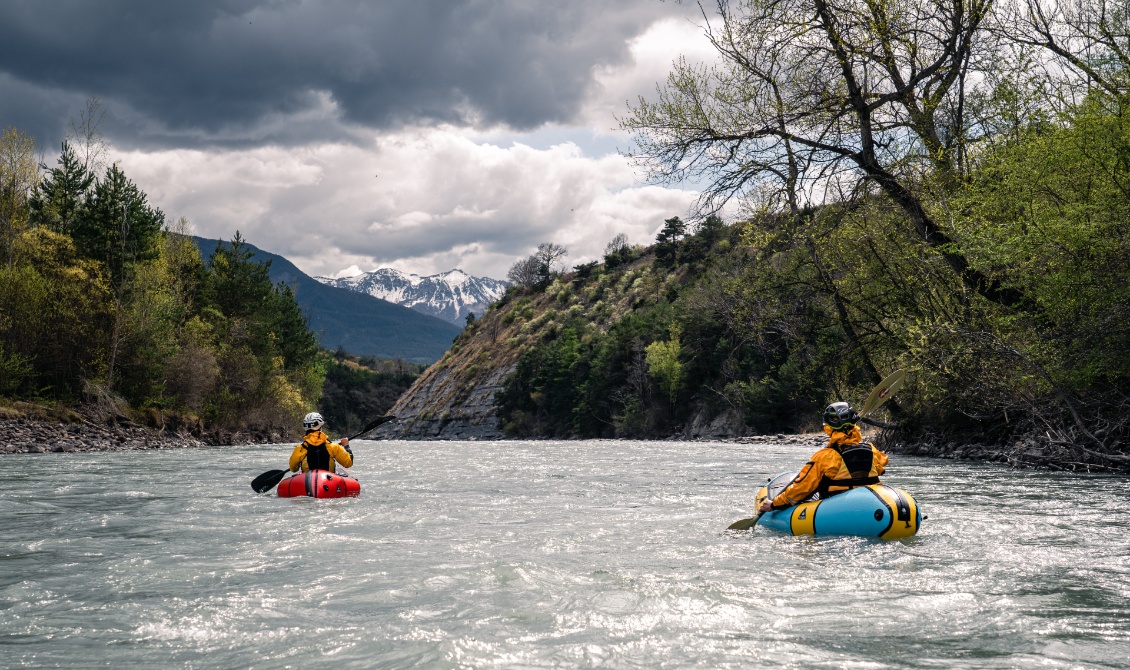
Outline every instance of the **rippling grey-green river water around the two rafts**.
[(812, 449), (355, 442), (0, 458), (3, 668), (1128, 668), (1114, 477), (892, 458), (911, 540), (724, 531)]

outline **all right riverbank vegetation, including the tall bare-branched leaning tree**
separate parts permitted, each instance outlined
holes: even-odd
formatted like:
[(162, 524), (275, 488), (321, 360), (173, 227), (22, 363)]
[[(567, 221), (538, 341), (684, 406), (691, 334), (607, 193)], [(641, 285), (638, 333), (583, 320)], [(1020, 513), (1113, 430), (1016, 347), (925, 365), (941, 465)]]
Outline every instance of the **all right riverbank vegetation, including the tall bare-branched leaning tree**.
[(623, 127), (654, 180), (709, 183), (704, 215), (748, 215), (512, 293), (507, 432), (812, 428), (902, 367), (892, 442), (1130, 463), (1124, 7), (719, 10), (721, 64), (677, 62)]

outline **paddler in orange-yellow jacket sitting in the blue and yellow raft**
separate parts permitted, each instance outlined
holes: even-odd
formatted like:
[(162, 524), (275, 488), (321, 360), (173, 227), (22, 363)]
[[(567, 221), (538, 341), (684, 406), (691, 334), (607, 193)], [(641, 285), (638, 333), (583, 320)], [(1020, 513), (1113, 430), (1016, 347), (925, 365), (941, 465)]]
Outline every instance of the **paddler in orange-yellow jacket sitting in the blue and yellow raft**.
[[(859, 415), (846, 402), (833, 402), (824, 410), (828, 445), (812, 454), (800, 473), (758, 512), (784, 510), (808, 499), (823, 499), (857, 486), (879, 484), (887, 454), (863, 442), (855, 423)], [(818, 494), (819, 497), (812, 497)]]

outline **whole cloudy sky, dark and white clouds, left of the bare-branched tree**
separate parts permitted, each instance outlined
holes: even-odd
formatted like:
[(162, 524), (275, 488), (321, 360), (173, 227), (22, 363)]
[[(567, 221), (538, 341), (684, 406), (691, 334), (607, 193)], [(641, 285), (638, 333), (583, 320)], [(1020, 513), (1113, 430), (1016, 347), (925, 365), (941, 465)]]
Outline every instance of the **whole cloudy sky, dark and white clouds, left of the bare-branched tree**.
[(198, 235), (311, 275), (504, 278), (539, 242), (575, 264), (688, 214), (616, 118), (711, 59), (702, 23), (672, 0), (5, 0), (0, 127), (53, 165), (97, 96), (111, 159)]

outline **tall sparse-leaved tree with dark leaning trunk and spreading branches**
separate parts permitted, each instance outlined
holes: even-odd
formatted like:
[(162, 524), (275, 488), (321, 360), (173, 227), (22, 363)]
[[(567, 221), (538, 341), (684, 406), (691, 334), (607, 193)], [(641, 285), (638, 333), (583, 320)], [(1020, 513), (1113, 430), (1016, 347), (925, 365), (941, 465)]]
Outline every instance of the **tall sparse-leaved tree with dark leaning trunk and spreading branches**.
[(881, 194), (967, 289), (1020, 305), (1023, 292), (953, 247), (921, 177), (944, 191), (960, 179), (962, 103), (991, 7), (722, 0), (706, 34), (720, 66), (678, 61), (658, 99), (641, 98), (621, 127), (653, 180), (709, 177), (707, 211), (755, 194), (790, 211), (816, 205), (814, 194)]

